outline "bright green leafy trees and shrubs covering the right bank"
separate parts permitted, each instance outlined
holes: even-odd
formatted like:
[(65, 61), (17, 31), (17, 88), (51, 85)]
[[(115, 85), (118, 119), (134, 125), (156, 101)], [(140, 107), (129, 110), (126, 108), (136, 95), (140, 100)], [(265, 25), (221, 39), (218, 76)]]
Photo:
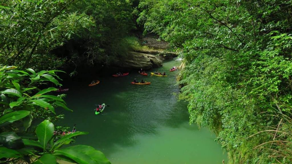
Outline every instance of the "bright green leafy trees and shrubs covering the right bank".
[(268, 158), (267, 144), (254, 148), (275, 139), (257, 133), (277, 127), (275, 109), (291, 117), (292, 1), (143, 0), (139, 9), (145, 33), (184, 58), (180, 97), (189, 101), (190, 122), (217, 134), (230, 163), (289, 163), (283, 154)]

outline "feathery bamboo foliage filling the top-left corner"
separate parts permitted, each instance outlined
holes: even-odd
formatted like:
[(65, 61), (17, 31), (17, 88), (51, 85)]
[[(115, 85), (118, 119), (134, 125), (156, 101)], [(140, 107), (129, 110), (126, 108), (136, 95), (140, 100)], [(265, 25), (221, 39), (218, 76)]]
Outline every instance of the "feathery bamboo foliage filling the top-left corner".
[[(64, 60), (50, 51), (94, 25), (90, 16), (68, 12), (73, 2), (24, 0), (1, 3), (0, 63), (43, 69), (62, 65)], [(51, 78), (50, 75), (43, 77)]]

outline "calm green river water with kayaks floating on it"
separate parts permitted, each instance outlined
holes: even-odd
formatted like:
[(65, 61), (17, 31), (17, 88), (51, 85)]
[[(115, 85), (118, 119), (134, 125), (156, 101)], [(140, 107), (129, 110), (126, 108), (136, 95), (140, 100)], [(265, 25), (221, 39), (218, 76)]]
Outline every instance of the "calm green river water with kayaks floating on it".
[[(227, 155), (207, 128), (189, 124), (186, 102), (178, 102), (179, 87), (170, 72), (180, 61), (168, 60), (150, 72), (166, 71), (168, 77), (142, 76), (130, 72), (123, 77), (90, 77), (73, 82), (65, 98), (74, 112), (63, 112), (61, 125), (89, 132), (77, 144), (93, 146), (112, 164), (221, 164)], [(150, 85), (130, 84), (134, 78)], [(100, 83), (88, 87), (93, 79)], [(109, 105), (95, 115), (95, 104)]]

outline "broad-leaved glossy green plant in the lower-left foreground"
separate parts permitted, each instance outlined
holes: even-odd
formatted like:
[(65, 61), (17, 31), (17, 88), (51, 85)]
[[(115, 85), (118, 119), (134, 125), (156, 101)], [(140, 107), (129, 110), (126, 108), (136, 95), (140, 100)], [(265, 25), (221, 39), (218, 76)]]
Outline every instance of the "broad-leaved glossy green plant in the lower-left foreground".
[[(15, 68), (0, 68), (0, 163), (53, 164), (61, 159), (79, 164), (110, 164), (103, 153), (91, 146), (76, 145), (62, 149), (62, 146), (74, 142), (74, 137), (88, 133), (58, 135), (58, 131), (65, 129), (58, 126), (55, 129), (51, 122), (63, 117), (55, 116), (55, 107), (70, 109), (62, 100), (64, 95), (49, 95), (56, 88), (40, 90), (37, 87), (48, 82), (61, 85), (56, 75), (60, 71), (36, 72), (33, 69), (21, 71)], [(36, 125), (32, 124), (33, 121), (43, 119), (36, 128), (32, 126)], [(32, 135), (27, 134), (28, 128), (35, 129)]]

